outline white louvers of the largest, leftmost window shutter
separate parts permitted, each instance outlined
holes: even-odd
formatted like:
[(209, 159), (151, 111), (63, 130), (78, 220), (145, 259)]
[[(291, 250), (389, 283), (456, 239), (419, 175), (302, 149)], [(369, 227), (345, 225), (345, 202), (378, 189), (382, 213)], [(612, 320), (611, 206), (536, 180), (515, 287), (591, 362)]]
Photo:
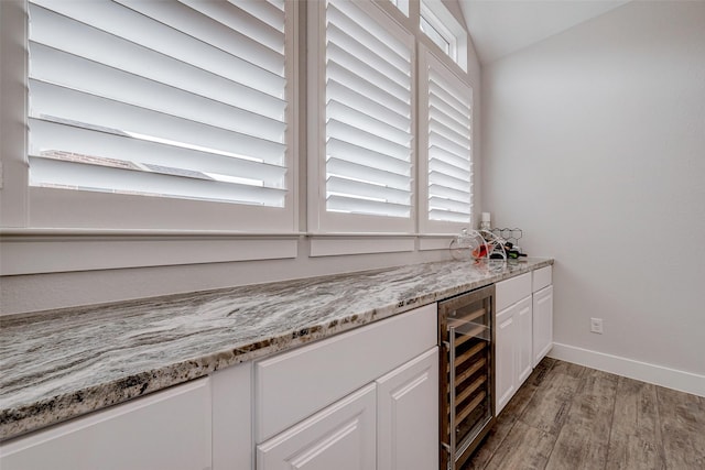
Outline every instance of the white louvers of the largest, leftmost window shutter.
[(31, 184), (283, 207), (286, 8), (30, 0)]

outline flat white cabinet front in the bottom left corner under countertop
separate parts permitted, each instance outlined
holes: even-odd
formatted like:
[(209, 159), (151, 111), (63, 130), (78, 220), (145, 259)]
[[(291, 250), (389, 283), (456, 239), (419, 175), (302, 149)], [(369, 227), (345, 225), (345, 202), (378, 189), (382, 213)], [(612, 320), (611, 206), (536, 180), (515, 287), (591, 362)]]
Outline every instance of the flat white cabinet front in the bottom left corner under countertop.
[(210, 409), (199, 379), (3, 444), (0, 468), (210, 469)]

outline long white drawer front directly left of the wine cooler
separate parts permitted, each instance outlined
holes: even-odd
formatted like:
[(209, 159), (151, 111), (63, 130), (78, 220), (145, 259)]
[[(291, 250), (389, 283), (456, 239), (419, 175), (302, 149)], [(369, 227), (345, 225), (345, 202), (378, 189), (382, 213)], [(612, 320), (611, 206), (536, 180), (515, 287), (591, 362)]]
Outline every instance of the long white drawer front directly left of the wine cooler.
[(436, 345), (436, 304), (256, 364), (256, 439), (262, 442)]

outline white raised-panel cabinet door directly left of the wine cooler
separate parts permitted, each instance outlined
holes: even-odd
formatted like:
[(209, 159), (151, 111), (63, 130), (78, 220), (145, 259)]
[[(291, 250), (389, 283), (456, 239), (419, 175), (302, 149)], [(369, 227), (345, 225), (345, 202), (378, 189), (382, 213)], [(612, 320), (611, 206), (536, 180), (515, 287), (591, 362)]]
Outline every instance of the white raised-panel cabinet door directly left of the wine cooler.
[(438, 468), (438, 348), (377, 381), (377, 470)]

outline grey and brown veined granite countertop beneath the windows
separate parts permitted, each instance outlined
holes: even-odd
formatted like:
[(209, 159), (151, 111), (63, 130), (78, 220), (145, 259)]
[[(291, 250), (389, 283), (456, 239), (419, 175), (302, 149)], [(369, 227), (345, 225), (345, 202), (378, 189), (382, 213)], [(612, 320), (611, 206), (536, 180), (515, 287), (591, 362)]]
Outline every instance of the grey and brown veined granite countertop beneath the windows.
[(549, 264), (436, 262), (0, 317), (0, 440)]

